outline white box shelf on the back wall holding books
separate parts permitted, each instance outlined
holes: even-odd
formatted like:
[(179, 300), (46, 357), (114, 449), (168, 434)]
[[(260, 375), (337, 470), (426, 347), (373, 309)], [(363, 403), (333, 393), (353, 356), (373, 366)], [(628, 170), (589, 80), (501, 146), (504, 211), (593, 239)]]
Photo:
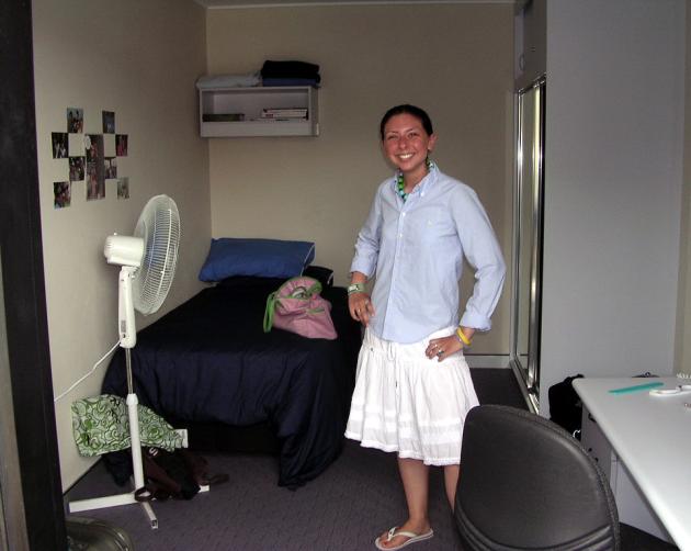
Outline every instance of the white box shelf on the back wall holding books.
[[(317, 89), (314, 87), (208, 88), (199, 90), (199, 93), (202, 137), (319, 135)], [(306, 108), (307, 119), (262, 120), (262, 110), (271, 108)], [(234, 114), (241, 114), (243, 120), (204, 120), (204, 115)]]

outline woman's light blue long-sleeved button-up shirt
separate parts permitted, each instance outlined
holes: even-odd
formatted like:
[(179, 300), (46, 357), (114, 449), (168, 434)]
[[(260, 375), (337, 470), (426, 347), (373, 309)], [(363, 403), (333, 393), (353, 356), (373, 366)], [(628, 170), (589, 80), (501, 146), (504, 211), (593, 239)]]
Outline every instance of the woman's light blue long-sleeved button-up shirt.
[(417, 342), (458, 325), (464, 256), (475, 268), (475, 286), (461, 325), (488, 330), (506, 265), (477, 194), (434, 165), (405, 202), (395, 177), (382, 182), (350, 267), (376, 277), (370, 329), (386, 340)]

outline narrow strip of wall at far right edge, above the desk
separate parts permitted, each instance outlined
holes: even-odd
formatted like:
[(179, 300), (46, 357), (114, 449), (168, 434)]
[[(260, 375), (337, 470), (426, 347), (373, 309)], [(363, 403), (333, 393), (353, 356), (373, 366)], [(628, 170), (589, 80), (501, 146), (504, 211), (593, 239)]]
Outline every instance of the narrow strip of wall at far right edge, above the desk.
[(691, 4), (687, 2), (684, 151), (675, 369), (691, 374)]

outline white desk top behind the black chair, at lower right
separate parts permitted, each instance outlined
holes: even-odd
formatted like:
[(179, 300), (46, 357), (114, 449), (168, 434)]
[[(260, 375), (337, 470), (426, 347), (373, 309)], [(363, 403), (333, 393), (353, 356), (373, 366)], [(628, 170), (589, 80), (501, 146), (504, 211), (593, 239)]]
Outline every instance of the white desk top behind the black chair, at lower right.
[(652, 396), (649, 391), (611, 394), (612, 389), (677, 378), (575, 379), (574, 389), (675, 542), (691, 551), (691, 394)]

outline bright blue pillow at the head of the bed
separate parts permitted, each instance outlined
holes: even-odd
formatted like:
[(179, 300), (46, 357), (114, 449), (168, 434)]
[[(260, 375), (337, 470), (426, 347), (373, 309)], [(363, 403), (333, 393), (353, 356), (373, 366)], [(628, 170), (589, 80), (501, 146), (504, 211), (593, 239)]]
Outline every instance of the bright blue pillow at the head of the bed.
[(315, 259), (315, 244), (280, 239), (212, 239), (200, 272), (202, 281), (220, 281), (231, 276), (293, 278)]

